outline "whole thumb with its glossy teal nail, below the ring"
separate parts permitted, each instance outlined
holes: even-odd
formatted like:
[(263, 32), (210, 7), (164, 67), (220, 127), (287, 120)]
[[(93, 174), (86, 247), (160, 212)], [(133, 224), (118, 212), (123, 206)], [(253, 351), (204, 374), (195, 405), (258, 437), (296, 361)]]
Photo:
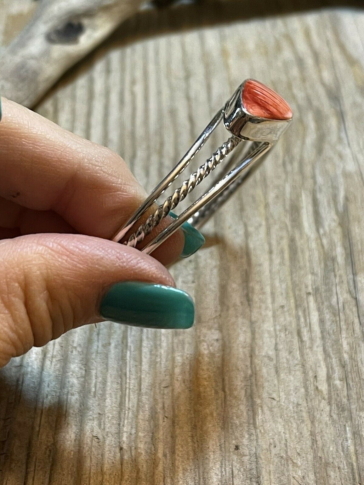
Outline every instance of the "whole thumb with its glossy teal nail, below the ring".
[(70, 234), (0, 242), (0, 367), (102, 320), (189, 328), (194, 304), (162, 264), (128, 246)]

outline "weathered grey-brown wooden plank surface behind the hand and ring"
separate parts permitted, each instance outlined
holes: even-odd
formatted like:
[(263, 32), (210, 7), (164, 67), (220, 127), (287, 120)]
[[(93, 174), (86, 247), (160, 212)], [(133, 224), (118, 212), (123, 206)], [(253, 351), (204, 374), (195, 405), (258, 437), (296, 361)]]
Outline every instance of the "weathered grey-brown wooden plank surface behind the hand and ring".
[[(32, 5), (0, 0), (4, 42)], [(149, 190), (247, 77), (277, 89), (295, 119), (204, 228), (206, 247), (172, 268), (196, 300), (194, 329), (89, 326), (0, 371), (1, 485), (364, 483), (364, 10), (354, 7), (149, 10), (37, 107), (119, 152)]]

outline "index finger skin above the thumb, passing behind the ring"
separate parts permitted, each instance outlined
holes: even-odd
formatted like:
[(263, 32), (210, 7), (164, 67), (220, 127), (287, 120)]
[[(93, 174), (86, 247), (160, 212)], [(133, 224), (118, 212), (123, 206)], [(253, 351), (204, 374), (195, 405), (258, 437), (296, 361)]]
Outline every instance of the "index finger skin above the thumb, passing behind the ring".
[[(52, 210), (76, 231), (106, 239), (146, 197), (116, 153), (6, 99), (0, 172), (3, 198), (32, 210)], [(175, 260), (183, 243), (179, 231), (164, 245), (168, 249), (157, 254), (164, 262)]]

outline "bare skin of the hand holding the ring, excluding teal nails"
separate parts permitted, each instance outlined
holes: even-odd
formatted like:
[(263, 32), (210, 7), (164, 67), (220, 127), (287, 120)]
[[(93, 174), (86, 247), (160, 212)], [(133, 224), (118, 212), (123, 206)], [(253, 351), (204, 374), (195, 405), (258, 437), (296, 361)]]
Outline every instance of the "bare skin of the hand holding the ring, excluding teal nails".
[(2, 109), (0, 367), (100, 322), (99, 302), (116, 282), (174, 286), (165, 265), (184, 243), (178, 231), (151, 257), (107, 241), (146, 197), (126, 163), (4, 98)]

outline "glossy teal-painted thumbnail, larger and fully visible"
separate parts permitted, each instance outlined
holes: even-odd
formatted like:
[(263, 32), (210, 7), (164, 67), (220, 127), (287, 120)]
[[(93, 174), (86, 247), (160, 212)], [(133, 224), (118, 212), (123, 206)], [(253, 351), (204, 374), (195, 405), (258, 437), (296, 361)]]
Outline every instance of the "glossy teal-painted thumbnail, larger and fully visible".
[(105, 320), (148, 328), (190, 328), (195, 305), (189, 294), (170, 286), (135, 281), (116, 283), (100, 305)]

